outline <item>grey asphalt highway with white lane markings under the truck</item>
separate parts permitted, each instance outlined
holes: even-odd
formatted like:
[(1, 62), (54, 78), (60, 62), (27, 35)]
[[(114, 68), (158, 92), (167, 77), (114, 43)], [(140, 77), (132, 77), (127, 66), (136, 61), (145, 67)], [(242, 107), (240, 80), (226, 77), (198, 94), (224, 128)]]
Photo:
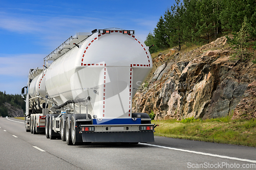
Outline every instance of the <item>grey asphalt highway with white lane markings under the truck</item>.
[[(246, 168), (247, 167), (247, 168)], [(67, 145), (0, 118), (0, 169), (256, 169), (256, 148), (155, 136), (154, 143)]]

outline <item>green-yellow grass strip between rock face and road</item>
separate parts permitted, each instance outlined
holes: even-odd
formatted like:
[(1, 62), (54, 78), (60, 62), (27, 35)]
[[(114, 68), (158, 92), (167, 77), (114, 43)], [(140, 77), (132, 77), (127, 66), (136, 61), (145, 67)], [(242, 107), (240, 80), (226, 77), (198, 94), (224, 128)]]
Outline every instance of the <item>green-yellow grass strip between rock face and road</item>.
[(156, 136), (256, 147), (256, 119), (231, 120), (227, 116), (206, 120), (153, 120), (152, 123), (159, 125), (155, 129)]

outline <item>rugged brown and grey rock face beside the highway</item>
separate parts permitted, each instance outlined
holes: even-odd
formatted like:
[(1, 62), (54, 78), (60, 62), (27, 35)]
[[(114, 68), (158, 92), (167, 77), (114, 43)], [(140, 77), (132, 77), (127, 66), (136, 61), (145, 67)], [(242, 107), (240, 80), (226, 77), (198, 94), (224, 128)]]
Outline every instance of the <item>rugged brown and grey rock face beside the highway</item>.
[[(133, 98), (133, 112), (153, 111), (155, 119), (244, 114), (256, 103), (256, 66), (230, 60), (231, 50), (225, 46), (221, 37), (188, 53), (169, 52), (172, 55), (153, 59), (149, 83)], [(249, 111), (254, 117), (255, 108)]]

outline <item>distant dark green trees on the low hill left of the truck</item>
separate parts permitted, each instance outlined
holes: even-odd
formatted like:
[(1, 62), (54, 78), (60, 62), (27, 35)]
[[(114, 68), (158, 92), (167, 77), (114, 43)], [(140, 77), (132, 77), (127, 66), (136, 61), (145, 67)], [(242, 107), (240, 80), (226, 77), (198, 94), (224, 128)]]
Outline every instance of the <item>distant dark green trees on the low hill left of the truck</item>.
[(8, 116), (8, 110), (4, 105), (5, 102), (13, 107), (23, 109), (24, 112), (26, 111), (26, 103), (20, 94), (6, 94), (6, 92), (0, 91), (0, 116)]

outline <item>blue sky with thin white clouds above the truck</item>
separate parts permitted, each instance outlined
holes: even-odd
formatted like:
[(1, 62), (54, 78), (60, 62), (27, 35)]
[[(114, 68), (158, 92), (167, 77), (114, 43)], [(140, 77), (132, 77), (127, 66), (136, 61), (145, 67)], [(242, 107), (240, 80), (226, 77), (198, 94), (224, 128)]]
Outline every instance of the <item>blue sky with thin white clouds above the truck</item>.
[(76, 32), (122, 28), (145, 40), (171, 1), (0, 0), (0, 91), (20, 94), (29, 68)]

